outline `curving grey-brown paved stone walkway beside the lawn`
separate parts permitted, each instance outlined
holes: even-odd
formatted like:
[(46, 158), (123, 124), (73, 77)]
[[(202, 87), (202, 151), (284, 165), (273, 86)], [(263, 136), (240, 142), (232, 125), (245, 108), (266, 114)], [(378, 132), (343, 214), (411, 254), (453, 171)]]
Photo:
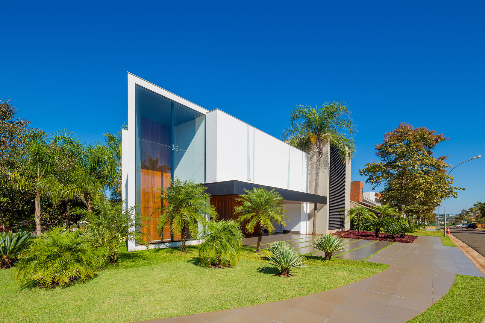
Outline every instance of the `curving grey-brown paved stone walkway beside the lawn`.
[(443, 246), (439, 237), (432, 236), (420, 236), (412, 244), (395, 243), (368, 261), (387, 263), (389, 267), (372, 277), (330, 291), (143, 322), (406, 322), (443, 297), (452, 287), (456, 274), (484, 277), (460, 249)]

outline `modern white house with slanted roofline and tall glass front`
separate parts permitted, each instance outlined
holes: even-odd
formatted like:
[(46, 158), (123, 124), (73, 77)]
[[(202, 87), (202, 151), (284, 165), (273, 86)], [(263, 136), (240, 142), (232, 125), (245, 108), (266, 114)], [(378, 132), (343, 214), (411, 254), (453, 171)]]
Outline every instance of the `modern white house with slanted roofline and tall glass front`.
[[(263, 186), (285, 199), (289, 221), (277, 232), (311, 234), (314, 203), (318, 234), (348, 229), (342, 210), (350, 203), (350, 162), (327, 144), (316, 195), (314, 159), (311, 150), (301, 151), (224, 111), (202, 108), (128, 73), (122, 198), (126, 207), (139, 205), (139, 213), (148, 218), (141, 221), (150, 247), (179, 244), (180, 236), (171, 234), (169, 226), (162, 234), (156, 230), (154, 212), (161, 203), (158, 189), (175, 177), (206, 186), (220, 219), (236, 218), (232, 209), (243, 189)], [(128, 247), (145, 248), (134, 241)]]

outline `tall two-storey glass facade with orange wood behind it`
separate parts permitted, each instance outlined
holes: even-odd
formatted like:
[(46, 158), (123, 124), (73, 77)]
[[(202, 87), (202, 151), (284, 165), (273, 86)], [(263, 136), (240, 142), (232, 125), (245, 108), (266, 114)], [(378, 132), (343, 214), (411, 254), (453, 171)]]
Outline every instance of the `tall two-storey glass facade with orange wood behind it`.
[[(149, 243), (178, 241), (157, 230), (160, 188), (170, 178), (205, 182), (205, 115), (136, 86), (136, 203)], [(145, 219), (147, 218), (147, 219)]]

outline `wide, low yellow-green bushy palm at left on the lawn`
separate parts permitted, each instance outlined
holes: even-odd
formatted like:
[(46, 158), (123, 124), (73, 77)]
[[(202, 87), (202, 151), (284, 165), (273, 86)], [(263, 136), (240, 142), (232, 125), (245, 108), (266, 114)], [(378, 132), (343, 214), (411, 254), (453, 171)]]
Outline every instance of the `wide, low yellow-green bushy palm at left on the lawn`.
[(41, 287), (65, 286), (95, 277), (100, 259), (83, 231), (52, 227), (25, 246), (14, 274), (21, 286), (32, 280)]

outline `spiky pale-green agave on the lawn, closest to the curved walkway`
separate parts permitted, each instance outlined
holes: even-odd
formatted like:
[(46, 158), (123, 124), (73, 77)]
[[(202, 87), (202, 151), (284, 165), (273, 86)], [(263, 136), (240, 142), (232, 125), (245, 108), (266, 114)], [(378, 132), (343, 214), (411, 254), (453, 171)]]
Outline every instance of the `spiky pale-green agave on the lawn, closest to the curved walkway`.
[(266, 262), (281, 269), (280, 277), (290, 277), (291, 268), (305, 267), (307, 265), (303, 255), (284, 242), (275, 241), (270, 244), (268, 250), (271, 251), (271, 256), (268, 257), (269, 261)]

